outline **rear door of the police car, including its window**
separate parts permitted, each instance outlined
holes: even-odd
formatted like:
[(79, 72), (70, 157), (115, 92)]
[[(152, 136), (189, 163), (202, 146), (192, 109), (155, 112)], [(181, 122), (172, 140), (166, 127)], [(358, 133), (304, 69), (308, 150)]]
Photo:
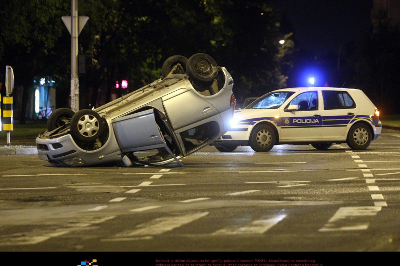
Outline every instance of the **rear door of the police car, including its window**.
[(322, 138), (345, 139), (346, 128), (360, 107), (345, 90), (322, 89)]

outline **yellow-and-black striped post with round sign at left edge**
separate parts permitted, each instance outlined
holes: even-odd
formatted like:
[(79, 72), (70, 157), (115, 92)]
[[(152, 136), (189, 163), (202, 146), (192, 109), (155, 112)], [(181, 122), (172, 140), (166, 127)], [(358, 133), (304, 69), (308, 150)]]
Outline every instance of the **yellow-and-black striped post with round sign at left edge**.
[(14, 91), (14, 71), (12, 67), (6, 66), (6, 93), (7, 96), (3, 97), (3, 117), (2, 127), (7, 131), (7, 144), (11, 145), (10, 132), (14, 131), (14, 119), (12, 116), (12, 91)]

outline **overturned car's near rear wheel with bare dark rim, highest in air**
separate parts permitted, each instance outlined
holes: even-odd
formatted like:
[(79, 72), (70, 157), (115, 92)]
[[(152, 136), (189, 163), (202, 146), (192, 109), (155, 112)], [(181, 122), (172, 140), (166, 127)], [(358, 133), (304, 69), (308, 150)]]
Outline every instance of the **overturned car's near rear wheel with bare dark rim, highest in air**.
[(186, 64), (186, 73), (189, 79), (198, 86), (209, 87), (218, 73), (218, 66), (214, 59), (207, 54), (194, 54)]

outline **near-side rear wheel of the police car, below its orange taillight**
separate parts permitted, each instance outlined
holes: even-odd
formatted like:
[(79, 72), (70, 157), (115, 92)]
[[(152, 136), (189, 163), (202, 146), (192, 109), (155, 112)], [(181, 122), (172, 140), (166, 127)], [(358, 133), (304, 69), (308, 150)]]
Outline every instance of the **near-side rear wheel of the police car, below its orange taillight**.
[(347, 135), (347, 145), (352, 150), (364, 150), (372, 141), (371, 129), (364, 123), (354, 124)]

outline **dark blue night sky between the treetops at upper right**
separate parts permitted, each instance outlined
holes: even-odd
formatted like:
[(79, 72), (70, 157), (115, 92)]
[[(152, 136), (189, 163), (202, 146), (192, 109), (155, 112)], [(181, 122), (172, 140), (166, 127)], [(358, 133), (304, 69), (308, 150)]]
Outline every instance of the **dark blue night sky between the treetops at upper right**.
[(297, 49), (317, 54), (338, 51), (340, 43), (362, 41), (370, 25), (372, 0), (272, 1), (294, 27)]

